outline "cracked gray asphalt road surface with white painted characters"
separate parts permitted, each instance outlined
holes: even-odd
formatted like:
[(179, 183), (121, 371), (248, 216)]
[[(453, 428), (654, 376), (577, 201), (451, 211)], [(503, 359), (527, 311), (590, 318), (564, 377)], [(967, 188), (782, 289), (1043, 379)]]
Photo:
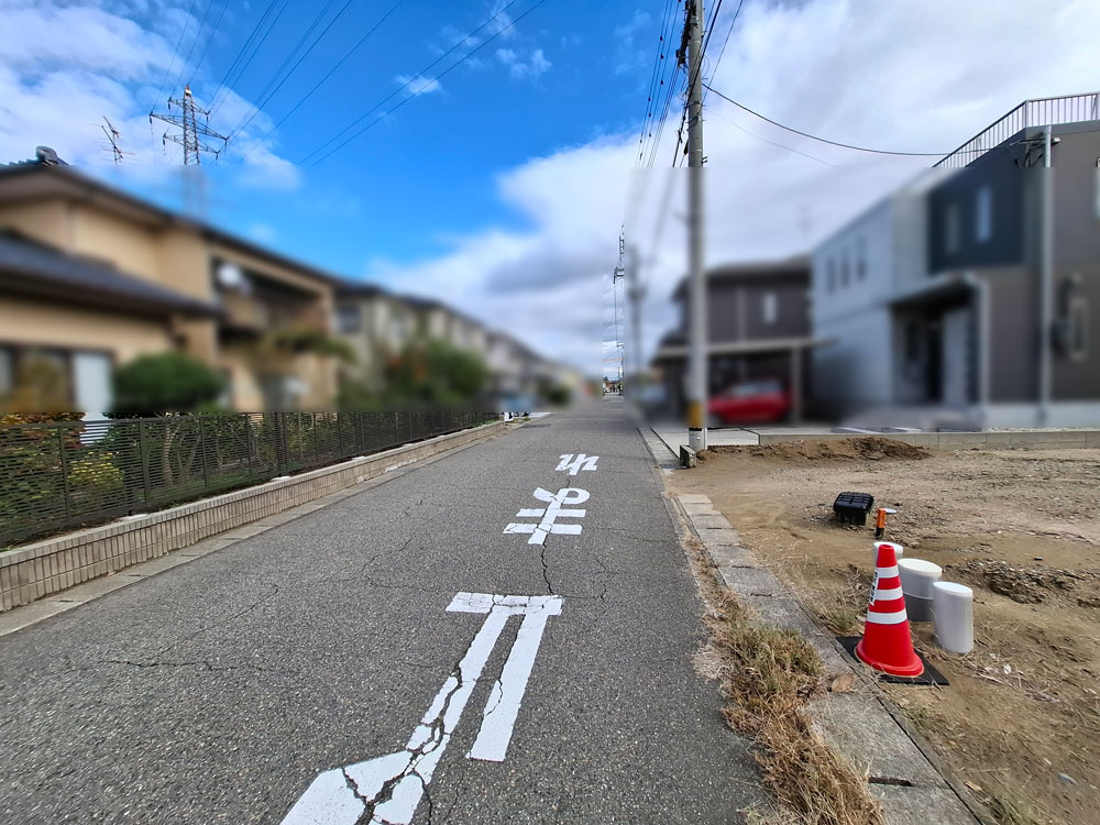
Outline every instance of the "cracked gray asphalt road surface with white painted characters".
[[(559, 457), (598, 455), (595, 472)], [(619, 399), (556, 414), (0, 639), (0, 822), (278, 823), (318, 773), (402, 750), (484, 615), (558, 595), (507, 758), (465, 758), (507, 622), (417, 823), (740, 822), (746, 744), (692, 657), (701, 604)], [(579, 536), (504, 535), (536, 487)], [(522, 520), (522, 519), (518, 519)]]

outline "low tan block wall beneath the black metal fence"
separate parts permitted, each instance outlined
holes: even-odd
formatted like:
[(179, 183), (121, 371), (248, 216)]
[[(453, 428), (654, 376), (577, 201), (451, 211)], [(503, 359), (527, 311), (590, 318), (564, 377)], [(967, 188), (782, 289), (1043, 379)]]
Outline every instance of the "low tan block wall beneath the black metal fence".
[(497, 421), (385, 452), (276, 479), (178, 507), (131, 516), (0, 553), (0, 612), (114, 573), (205, 538), (377, 477), (446, 450), (484, 441), (504, 430)]

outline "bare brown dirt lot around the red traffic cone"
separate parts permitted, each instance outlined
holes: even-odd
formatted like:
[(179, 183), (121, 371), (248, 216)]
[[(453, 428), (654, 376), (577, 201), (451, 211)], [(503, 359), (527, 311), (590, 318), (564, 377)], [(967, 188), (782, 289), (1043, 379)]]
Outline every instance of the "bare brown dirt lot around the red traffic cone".
[(883, 439), (719, 448), (676, 493), (704, 493), (744, 543), (840, 635), (862, 631), (873, 558), (836, 525), (837, 493), (893, 507), (888, 537), (975, 588), (972, 653), (914, 624), (949, 688), (887, 685), (1005, 823), (1100, 823), (1100, 451), (928, 452)]

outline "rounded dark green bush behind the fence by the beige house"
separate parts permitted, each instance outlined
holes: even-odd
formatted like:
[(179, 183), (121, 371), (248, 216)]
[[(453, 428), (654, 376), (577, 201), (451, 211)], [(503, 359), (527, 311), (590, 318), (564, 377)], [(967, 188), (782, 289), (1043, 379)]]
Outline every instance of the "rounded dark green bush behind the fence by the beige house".
[(140, 355), (114, 372), (117, 418), (194, 413), (222, 394), (224, 378), (182, 352)]

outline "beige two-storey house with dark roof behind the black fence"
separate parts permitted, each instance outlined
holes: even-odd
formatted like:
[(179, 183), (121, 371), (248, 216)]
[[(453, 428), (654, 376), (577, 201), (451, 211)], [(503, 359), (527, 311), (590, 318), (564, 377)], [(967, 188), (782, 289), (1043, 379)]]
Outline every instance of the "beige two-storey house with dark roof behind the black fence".
[[(85, 293), (97, 278), (106, 284), (105, 273), (113, 272), (117, 285), (143, 284), (146, 294), (156, 288), (162, 298), (170, 294), (189, 307), (172, 316), (168, 333), (139, 341), (135, 332), (112, 322), (110, 307), (78, 297), (75, 287), (67, 295), (38, 294), (30, 300), (26, 282), (36, 276), (10, 267), (0, 307), (18, 315), (19, 323), (3, 324), (0, 333), (9, 352), (32, 346), (97, 350), (121, 362), (175, 346), (227, 375), (227, 400), (235, 409), (316, 409), (332, 403), (336, 364), (308, 345), (311, 333), (330, 330), (339, 283), (330, 274), (162, 209), (72, 166), (44, 162), (0, 167), (0, 229), (13, 233), (14, 243), (31, 239), (40, 250), (53, 250), (56, 265), (62, 260), (86, 262)], [(35, 260), (46, 265), (45, 253), (40, 251)], [(98, 275), (89, 261), (98, 262)], [(106, 329), (116, 340), (105, 348), (103, 334), (95, 331)], [(102, 361), (82, 374), (94, 372), (102, 384), (108, 372)], [(75, 402), (99, 398), (92, 406), (101, 407), (109, 387), (77, 387), (75, 393)]]

